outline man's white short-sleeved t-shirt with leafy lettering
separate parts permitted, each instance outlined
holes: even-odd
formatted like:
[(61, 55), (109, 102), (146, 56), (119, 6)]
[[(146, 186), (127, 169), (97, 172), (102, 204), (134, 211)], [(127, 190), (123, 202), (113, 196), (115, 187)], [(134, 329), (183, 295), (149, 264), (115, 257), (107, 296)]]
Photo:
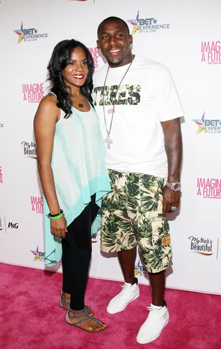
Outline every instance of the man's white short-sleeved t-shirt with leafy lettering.
[(117, 92), (128, 66), (109, 68), (105, 89), (108, 65), (97, 70), (93, 76), (94, 105), (104, 139), (107, 137), (104, 109), (109, 130), (113, 102), (117, 99), (110, 134), (113, 140), (111, 149), (105, 143), (106, 163), (108, 168), (118, 172), (165, 178), (168, 167), (160, 122), (184, 114), (175, 84), (169, 70), (162, 64), (135, 56)]

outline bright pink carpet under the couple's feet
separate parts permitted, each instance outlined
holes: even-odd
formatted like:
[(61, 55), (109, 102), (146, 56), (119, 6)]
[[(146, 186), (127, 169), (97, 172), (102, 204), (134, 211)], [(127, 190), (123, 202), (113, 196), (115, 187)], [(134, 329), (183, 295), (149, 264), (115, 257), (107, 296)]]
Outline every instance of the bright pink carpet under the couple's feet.
[[(152, 343), (135, 341), (148, 314), (148, 286), (140, 286), (140, 298), (117, 315), (106, 306), (120, 284), (90, 278), (86, 303), (108, 329), (90, 334), (65, 323), (59, 308), (61, 274), (0, 263), (0, 348), (2, 349), (220, 349), (221, 297), (166, 290), (170, 321)], [(206, 280), (206, 279), (205, 279)]]

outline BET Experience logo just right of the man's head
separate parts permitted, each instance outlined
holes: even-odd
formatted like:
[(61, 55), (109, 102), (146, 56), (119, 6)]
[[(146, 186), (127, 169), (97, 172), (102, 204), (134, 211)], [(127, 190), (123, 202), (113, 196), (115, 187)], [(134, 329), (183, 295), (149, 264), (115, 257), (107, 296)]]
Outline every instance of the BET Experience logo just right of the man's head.
[(160, 29), (170, 29), (169, 23), (157, 23), (157, 19), (154, 17), (151, 18), (140, 18), (139, 11), (137, 12), (136, 19), (128, 19), (129, 23), (133, 26), (132, 35), (136, 34), (136, 32), (157, 32)]

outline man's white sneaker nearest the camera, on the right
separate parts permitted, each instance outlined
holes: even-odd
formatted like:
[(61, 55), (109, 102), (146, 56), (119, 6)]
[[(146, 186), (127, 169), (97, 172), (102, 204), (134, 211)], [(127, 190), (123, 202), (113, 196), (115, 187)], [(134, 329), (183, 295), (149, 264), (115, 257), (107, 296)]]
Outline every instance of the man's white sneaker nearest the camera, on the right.
[(147, 309), (149, 310), (149, 315), (137, 334), (137, 342), (140, 344), (150, 343), (157, 339), (169, 321), (166, 302), (162, 308), (151, 304)]

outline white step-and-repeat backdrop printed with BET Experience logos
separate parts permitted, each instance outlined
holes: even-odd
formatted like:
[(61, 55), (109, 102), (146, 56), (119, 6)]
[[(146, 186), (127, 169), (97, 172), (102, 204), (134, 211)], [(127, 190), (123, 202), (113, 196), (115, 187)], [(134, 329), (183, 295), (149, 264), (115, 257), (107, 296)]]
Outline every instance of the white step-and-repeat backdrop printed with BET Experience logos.
[[(47, 94), (46, 66), (63, 39), (82, 41), (96, 69), (97, 26), (121, 17), (133, 53), (163, 63), (184, 108), (182, 202), (169, 215), (173, 268), (167, 287), (221, 294), (221, 3), (217, 0), (1, 0), (0, 261), (44, 266), (42, 191), (33, 118)], [(61, 266), (48, 268), (61, 271)], [(148, 283), (139, 255), (135, 275)], [(116, 256), (93, 236), (90, 276), (122, 280)]]

